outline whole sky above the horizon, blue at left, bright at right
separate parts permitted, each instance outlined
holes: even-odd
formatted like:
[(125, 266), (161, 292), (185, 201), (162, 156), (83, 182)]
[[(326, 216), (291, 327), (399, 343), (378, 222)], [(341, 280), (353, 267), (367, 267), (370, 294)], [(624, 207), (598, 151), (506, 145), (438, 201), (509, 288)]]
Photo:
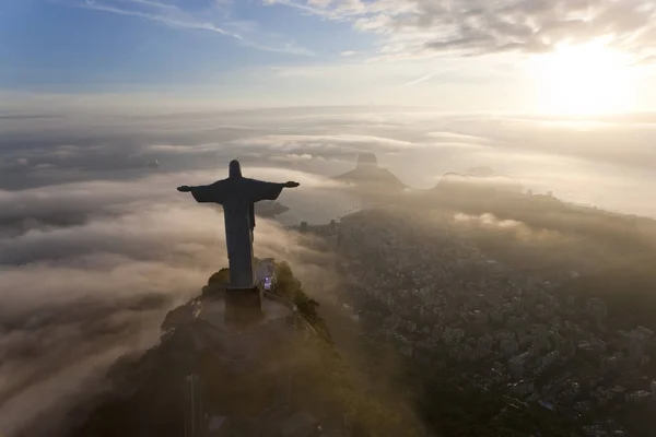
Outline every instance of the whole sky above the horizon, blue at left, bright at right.
[(655, 17), (651, 0), (4, 0), (0, 93), (37, 106), (652, 110)]

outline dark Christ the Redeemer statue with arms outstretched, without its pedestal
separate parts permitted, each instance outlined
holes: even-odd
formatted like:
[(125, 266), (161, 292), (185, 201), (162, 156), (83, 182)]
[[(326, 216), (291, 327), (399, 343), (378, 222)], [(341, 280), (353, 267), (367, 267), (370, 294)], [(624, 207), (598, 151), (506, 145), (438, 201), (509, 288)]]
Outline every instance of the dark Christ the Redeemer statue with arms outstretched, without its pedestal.
[(230, 267), (230, 288), (254, 288), (253, 229), (255, 228), (254, 204), (260, 200), (276, 200), (283, 188), (298, 187), (298, 182), (265, 182), (242, 176), (242, 166), (234, 160), (230, 163), (227, 179), (199, 187), (183, 186), (178, 191), (191, 192), (199, 203), (223, 205), (225, 241)]

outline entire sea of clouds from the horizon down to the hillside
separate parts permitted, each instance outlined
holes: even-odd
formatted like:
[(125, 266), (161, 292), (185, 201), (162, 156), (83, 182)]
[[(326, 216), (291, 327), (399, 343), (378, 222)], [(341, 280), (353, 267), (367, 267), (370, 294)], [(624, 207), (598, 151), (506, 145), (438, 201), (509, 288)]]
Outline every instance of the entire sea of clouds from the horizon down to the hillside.
[[(361, 206), (330, 176), (360, 152), (415, 189), (491, 167), (536, 192), (656, 216), (656, 117), (559, 120), (426, 109), (184, 114), (0, 111), (0, 433), (57, 421), (119, 356), (159, 340), (166, 311), (226, 264), (220, 209), (175, 188), (297, 180), (256, 253), (312, 272), (284, 225)], [(157, 165), (155, 165), (155, 162)], [(315, 272), (316, 273), (316, 272)]]

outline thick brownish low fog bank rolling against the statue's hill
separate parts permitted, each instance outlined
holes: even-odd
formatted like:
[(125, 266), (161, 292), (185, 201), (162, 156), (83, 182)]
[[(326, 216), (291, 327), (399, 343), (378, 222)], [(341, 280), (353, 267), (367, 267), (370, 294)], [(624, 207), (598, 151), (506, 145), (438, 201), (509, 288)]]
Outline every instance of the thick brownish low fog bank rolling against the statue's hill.
[[(165, 312), (226, 265), (221, 211), (176, 192), (179, 178), (0, 193), (2, 433), (37, 417), (56, 429), (67, 405), (99, 390), (119, 356), (153, 345)], [(266, 220), (255, 249), (300, 269), (312, 255)]]

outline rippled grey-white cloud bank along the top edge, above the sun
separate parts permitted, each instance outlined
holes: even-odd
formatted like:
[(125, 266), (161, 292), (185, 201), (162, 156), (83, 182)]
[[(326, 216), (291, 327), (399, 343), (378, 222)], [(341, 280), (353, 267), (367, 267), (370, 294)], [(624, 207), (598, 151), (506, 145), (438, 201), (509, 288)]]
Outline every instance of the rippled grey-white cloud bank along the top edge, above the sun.
[(383, 39), (386, 58), (436, 52), (542, 52), (563, 42), (610, 37), (635, 55), (649, 52), (656, 4), (649, 0), (266, 0), (344, 21)]

